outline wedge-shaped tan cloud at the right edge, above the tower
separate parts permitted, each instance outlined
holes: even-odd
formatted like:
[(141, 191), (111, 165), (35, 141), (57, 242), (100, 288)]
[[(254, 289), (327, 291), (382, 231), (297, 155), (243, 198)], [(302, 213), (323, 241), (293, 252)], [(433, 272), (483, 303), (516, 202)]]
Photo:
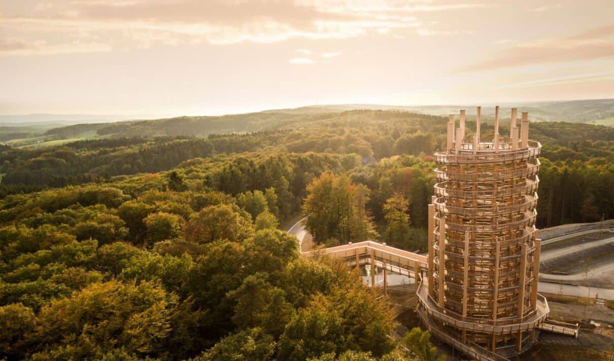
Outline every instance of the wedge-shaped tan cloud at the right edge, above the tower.
[(456, 72), (488, 71), (564, 61), (614, 58), (614, 25), (561, 39), (538, 39), (494, 53), (488, 60), (457, 68)]

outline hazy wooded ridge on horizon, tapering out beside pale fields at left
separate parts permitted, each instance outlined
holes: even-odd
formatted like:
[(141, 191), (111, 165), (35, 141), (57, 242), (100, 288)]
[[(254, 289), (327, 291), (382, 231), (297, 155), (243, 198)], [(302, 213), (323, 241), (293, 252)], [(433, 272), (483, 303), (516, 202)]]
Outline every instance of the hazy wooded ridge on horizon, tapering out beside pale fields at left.
[[(510, 117), (510, 107), (528, 111), (532, 122), (596, 123), (614, 126), (614, 99), (580, 100), (547, 103), (501, 104), (500, 118)], [(384, 110), (414, 112), (430, 115), (456, 114), (459, 109), (467, 111), (468, 118), (475, 118), (475, 106), (386, 106), (377, 104), (338, 104), (306, 106), (295, 109), (274, 109), (271, 111), (222, 115), (219, 117), (176, 117), (157, 120), (118, 122), (101, 126), (98, 136), (206, 136), (223, 133), (251, 133), (254, 131), (277, 130), (300, 126), (301, 123), (325, 121), (330, 117), (343, 117), (343, 112), (363, 110)], [(482, 107), (484, 122), (494, 119), (494, 106)], [(332, 115), (335, 114), (335, 115)], [(341, 115), (340, 115), (341, 114)], [(610, 122), (610, 120), (612, 120)]]

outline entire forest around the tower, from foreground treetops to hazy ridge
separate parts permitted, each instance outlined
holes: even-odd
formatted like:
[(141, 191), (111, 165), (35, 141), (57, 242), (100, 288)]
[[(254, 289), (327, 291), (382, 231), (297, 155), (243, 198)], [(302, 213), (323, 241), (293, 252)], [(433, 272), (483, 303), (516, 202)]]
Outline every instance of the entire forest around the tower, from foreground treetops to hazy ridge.
[[(275, 114), (253, 120), (268, 129), (206, 138), (122, 130), (2, 147), (0, 358), (434, 359), (419, 330), (401, 342), (410, 353), (387, 337), (391, 309), (357, 274), (300, 258), (297, 239), (278, 228), (308, 212), (319, 243), (425, 250), (432, 153), (447, 120), (293, 119)], [(488, 122), (482, 129), (492, 134)], [(539, 224), (612, 217), (614, 129), (534, 123), (530, 134), (544, 145)]]

